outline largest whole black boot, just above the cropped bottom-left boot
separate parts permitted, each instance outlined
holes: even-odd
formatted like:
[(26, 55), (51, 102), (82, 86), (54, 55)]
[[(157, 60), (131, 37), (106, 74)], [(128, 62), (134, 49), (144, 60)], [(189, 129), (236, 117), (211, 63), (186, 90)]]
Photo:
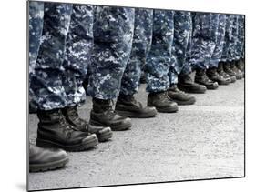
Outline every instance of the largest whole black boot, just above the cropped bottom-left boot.
[(95, 134), (77, 131), (67, 123), (60, 109), (37, 111), (39, 118), (36, 145), (57, 147), (67, 151), (82, 151), (95, 147), (98, 143)]

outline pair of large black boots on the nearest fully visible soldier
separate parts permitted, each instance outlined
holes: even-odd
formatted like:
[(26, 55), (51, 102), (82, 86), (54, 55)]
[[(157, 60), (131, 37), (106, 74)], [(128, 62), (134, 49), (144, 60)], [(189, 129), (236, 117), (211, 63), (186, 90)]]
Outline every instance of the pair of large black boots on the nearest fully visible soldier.
[(54, 110), (38, 110), (36, 145), (57, 147), (67, 151), (83, 151), (97, 146), (98, 141), (112, 137), (108, 126), (93, 126), (79, 118), (77, 106)]

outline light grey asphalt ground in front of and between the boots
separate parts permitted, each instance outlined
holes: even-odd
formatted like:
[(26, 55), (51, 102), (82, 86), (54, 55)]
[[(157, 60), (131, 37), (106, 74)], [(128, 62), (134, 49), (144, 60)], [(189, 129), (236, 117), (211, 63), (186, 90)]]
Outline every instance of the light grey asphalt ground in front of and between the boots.
[[(147, 102), (145, 85), (137, 98)], [(97, 148), (68, 153), (66, 168), (29, 174), (29, 189), (95, 187), (244, 175), (244, 80), (195, 95), (193, 106), (175, 114), (133, 119), (132, 129), (115, 132)], [(88, 119), (92, 103), (79, 108)], [(29, 116), (36, 140), (35, 115)]]

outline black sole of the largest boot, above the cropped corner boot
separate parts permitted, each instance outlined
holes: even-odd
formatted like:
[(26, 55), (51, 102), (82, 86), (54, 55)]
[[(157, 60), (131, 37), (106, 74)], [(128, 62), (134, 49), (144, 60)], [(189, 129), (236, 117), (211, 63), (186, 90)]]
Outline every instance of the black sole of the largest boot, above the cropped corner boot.
[(36, 146), (38, 146), (38, 147), (63, 148), (64, 150), (71, 151), (71, 152), (85, 151), (85, 150), (88, 150), (90, 148), (97, 146), (97, 144), (98, 144), (97, 136), (93, 136), (93, 135), (87, 136), (87, 138), (84, 138), (82, 143), (76, 144), (76, 145), (71, 145), (71, 146), (62, 145), (62, 144), (59, 144), (59, 143), (56, 143), (56, 142), (50, 141), (50, 140), (36, 138)]

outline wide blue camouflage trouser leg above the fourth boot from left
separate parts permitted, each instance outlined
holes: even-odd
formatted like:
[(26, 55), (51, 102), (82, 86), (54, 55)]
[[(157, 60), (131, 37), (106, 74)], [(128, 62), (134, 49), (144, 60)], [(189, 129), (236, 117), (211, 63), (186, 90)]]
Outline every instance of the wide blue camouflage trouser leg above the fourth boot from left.
[(118, 96), (131, 52), (134, 8), (97, 6), (88, 94), (98, 99)]

